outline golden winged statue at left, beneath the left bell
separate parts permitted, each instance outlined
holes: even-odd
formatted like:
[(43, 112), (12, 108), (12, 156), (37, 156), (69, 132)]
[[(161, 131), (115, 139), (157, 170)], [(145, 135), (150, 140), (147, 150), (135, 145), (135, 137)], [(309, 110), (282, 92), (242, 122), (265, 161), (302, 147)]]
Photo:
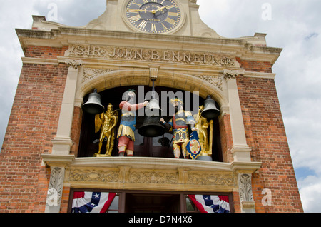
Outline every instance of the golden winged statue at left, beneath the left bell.
[[(109, 104), (107, 111), (102, 114), (97, 114), (95, 117), (95, 132), (98, 133), (101, 130), (101, 136), (99, 138), (99, 150), (95, 153), (94, 157), (111, 157), (115, 141), (115, 130), (118, 122), (118, 112), (113, 111), (113, 105)], [(103, 146), (103, 140), (107, 139), (106, 154), (101, 154), (101, 147)]]

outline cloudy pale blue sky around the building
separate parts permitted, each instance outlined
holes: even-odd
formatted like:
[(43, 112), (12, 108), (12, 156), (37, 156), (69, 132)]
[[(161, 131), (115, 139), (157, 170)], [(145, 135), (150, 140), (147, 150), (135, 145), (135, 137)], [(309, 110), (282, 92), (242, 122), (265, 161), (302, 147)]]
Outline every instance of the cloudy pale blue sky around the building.
[[(105, 0), (0, 0), (0, 146), (24, 56), (15, 29), (31, 29), (32, 15), (83, 26), (103, 14)], [(282, 48), (272, 70), (305, 212), (321, 212), (321, 1), (198, 0), (200, 17), (220, 36), (267, 34)], [(18, 7), (19, 6), (19, 7)]]

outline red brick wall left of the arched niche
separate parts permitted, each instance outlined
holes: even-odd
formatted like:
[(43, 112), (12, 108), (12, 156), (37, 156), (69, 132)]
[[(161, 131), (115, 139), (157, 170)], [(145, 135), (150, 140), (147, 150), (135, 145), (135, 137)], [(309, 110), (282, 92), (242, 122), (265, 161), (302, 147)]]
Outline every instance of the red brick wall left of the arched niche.
[[(66, 48), (29, 46), (26, 57), (56, 58)], [(68, 67), (24, 64), (0, 153), (0, 212), (44, 212), (51, 153)]]

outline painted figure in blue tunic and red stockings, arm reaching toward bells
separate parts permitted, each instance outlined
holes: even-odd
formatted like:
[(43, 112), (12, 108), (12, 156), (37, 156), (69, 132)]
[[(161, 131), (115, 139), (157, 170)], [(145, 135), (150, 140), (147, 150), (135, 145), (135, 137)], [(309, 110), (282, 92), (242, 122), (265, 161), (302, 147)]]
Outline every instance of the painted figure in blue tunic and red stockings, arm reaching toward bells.
[(118, 156), (133, 156), (136, 130), (136, 111), (148, 105), (148, 101), (135, 104), (136, 91), (128, 90), (123, 94), (121, 109), (121, 125), (118, 128)]

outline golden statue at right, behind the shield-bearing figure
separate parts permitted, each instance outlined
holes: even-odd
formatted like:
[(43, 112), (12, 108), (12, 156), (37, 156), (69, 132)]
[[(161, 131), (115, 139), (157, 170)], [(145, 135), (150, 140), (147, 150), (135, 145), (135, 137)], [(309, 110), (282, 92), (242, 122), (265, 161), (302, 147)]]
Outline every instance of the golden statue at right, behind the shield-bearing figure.
[[(198, 114), (194, 115), (195, 128), (198, 128), (198, 138), (200, 141), (200, 146), (202, 151), (200, 156), (212, 156), (212, 146), (213, 146), (213, 120), (208, 122), (206, 118), (201, 116), (204, 106), (200, 106), (198, 109)], [(210, 138), (208, 138), (208, 126), (210, 126)]]

